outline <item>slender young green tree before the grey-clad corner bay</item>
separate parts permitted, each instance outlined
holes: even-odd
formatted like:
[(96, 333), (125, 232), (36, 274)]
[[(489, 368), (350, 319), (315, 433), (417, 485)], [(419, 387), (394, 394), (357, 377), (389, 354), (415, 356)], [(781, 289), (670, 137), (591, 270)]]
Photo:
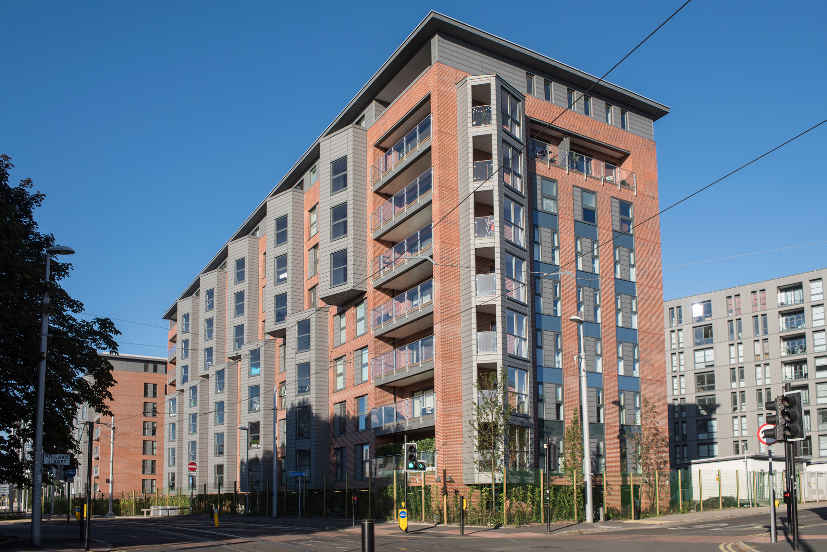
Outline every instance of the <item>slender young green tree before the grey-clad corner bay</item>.
[(508, 372), (480, 374), (475, 385), (476, 401), (473, 416), (468, 422), (474, 443), (476, 468), (491, 473), (491, 494), (497, 474), (505, 461), (506, 440), (509, 432)]

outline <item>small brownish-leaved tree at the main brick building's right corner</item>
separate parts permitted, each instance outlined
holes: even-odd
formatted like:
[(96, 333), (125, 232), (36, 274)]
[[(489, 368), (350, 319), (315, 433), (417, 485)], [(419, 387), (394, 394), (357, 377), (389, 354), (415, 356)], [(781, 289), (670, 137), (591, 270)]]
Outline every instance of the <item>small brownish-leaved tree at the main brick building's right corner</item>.
[(662, 430), (657, 420), (657, 409), (646, 397), (642, 397), (640, 414), (627, 438), (627, 454), (631, 454), (635, 472), (642, 476), (648, 497), (655, 503), (656, 472), (669, 470), (669, 434)]

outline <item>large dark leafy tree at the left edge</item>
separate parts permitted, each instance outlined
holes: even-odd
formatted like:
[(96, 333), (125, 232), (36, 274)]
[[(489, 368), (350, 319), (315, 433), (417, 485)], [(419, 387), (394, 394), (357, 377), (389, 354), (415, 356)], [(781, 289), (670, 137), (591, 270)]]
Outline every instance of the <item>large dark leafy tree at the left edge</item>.
[[(50, 296), (49, 348), (46, 356), (43, 451), (78, 453), (74, 417), (86, 404), (111, 415), (112, 364), (98, 350), (117, 353), (112, 320), (80, 320), (84, 305), (60, 287), (72, 265), (53, 258), (45, 277), (45, 248), (51, 234), (38, 231), (34, 210), (45, 194), (32, 194), (31, 179), (9, 185), (8, 156), (0, 155), (0, 481), (29, 486), (33, 458), (20, 451), (34, 441), (37, 370), (40, 353), (41, 300)], [(45, 474), (44, 474), (45, 475)]]

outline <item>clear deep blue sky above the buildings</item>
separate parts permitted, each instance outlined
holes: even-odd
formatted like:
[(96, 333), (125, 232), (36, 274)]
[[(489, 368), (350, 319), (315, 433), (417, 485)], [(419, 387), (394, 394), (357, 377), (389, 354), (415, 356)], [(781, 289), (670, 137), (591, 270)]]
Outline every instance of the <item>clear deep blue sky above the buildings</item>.
[[(0, 152), (47, 197), (87, 311), (160, 317), (435, 9), (603, 74), (681, 2), (0, 2)], [(824, 2), (693, 0), (609, 80), (655, 123), (661, 204), (823, 118)], [(663, 215), (664, 266), (827, 240), (827, 124)], [(827, 266), (827, 244), (667, 268), (667, 298)], [(165, 330), (116, 322), (122, 353)]]

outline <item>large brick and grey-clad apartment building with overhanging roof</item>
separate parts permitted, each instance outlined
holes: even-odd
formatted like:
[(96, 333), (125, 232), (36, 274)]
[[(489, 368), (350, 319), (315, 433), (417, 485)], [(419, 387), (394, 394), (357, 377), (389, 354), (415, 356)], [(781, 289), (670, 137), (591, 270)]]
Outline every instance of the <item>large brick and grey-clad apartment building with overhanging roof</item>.
[(165, 313), (168, 484), (264, 488), (275, 461), (366, 485), (377, 447), (427, 437), (483, 482), (475, 382), (500, 369), (509, 462), (537, 467), (579, 404), (573, 314), (595, 468), (623, 469), (641, 397), (666, 423), (660, 231), (633, 224), (668, 110), (596, 81), (430, 13)]

